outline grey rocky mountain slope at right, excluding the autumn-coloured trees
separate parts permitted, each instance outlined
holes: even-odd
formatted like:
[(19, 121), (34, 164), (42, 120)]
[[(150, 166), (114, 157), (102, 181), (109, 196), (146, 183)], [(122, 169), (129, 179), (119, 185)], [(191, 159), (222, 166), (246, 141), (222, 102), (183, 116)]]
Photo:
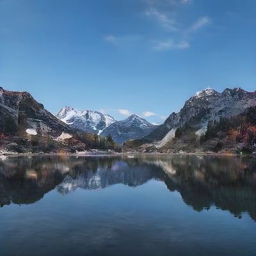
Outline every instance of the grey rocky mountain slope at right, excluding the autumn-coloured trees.
[[(241, 118), (246, 120), (248, 109), (255, 105), (256, 92), (246, 92), (242, 88), (225, 89), (222, 93), (212, 89), (197, 92), (185, 102), (179, 113), (172, 113), (163, 125), (143, 140), (138, 141), (137, 145), (147, 143), (145, 147), (164, 148), (165, 150), (171, 148), (172, 152), (195, 151), (196, 148), (202, 149), (200, 143), (204, 142), (207, 131), (215, 126), (216, 138), (211, 142), (211, 146), (205, 146), (215, 148), (218, 142), (223, 143), (220, 140), (224, 138), (223, 134), (221, 138), (217, 136), (223, 131), (216, 131), (216, 127), (220, 130), (221, 124), (223, 125), (225, 121), (230, 129), (238, 131)], [(239, 118), (240, 122), (238, 122)], [(226, 135), (230, 129), (225, 131)]]

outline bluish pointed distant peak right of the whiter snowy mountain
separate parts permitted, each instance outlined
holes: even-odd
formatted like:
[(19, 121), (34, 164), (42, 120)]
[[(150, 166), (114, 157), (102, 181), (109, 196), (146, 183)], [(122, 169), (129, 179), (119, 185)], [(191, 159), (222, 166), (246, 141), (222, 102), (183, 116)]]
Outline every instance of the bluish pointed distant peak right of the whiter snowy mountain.
[(131, 115), (125, 120), (115, 122), (104, 129), (100, 136), (108, 136), (110, 134), (116, 143), (122, 143), (127, 140), (142, 138), (156, 129), (156, 125), (152, 125), (147, 120), (138, 115)]

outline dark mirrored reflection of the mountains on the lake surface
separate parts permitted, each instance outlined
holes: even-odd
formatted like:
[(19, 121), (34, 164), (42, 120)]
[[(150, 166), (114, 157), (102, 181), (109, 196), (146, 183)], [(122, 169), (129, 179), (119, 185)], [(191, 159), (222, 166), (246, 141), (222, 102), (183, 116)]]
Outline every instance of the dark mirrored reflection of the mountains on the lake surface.
[(31, 204), (56, 188), (65, 195), (77, 188), (104, 189), (114, 184), (140, 186), (163, 181), (179, 191), (195, 211), (212, 205), (256, 221), (256, 159), (225, 156), (138, 155), (18, 156), (0, 161), (0, 204)]

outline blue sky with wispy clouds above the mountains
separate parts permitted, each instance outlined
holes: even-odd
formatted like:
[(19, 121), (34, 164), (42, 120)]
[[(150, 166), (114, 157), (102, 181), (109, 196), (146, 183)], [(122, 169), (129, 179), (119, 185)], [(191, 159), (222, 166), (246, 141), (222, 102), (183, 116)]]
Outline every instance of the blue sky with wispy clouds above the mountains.
[(254, 0), (0, 0), (0, 86), (163, 123), (207, 87), (256, 90)]

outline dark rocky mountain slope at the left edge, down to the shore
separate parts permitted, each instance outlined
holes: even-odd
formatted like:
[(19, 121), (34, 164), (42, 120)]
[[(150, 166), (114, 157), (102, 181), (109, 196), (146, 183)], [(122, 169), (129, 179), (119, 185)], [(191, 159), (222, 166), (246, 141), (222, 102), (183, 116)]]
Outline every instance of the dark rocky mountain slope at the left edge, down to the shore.
[(58, 141), (71, 138), (74, 131), (28, 92), (0, 88), (0, 134), (1, 150), (45, 152), (61, 147)]

